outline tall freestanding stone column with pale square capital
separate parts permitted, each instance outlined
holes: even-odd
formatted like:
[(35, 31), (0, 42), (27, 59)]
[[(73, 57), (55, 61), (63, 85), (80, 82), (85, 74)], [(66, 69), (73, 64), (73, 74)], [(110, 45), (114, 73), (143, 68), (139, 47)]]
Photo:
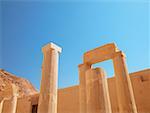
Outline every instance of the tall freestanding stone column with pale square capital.
[(44, 58), (38, 113), (57, 113), (58, 59), (61, 48), (50, 43), (42, 51)]

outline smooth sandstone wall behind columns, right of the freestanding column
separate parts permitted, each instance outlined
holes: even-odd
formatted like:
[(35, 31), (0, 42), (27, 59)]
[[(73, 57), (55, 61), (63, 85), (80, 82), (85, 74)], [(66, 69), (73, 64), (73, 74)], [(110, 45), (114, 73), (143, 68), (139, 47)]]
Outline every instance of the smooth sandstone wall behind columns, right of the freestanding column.
[[(150, 69), (130, 74), (139, 113), (150, 113)], [(108, 79), (113, 113), (118, 111), (115, 78)], [(59, 89), (58, 113), (79, 113), (79, 86)]]

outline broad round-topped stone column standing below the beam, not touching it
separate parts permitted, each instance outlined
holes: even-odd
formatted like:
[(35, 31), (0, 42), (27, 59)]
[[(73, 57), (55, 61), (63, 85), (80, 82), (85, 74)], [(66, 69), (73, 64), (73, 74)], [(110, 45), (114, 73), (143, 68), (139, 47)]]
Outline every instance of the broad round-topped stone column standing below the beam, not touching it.
[(107, 78), (101, 68), (86, 72), (87, 113), (112, 113)]

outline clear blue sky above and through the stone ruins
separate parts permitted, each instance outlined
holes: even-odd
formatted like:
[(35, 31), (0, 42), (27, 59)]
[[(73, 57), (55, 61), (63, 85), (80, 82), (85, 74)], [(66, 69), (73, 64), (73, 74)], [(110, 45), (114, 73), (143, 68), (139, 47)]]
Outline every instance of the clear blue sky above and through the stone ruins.
[[(41, 47), (63, 48), (59, 88), (78, 84), (78, 64), (87, 50), (115, 42), (126, 53), (129, 72), (150, 67), (149, 3), (1, 1), (0, 68), (31, 81), (39, 89)], [(110, 61), (101, 66), (113, 75)]]

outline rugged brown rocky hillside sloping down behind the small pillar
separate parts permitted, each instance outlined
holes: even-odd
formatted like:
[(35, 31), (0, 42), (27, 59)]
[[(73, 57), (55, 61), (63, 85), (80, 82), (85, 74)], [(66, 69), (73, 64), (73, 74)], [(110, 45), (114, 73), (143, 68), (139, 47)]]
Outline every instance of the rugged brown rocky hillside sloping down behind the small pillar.
[(8, 73), (4, 70), (0, 70), (0, 97), (9, 97), (12, 95), (12, 84), (18, 87), (18, 96), (28, 96), (35, 94), (37, 91), (33, 85), (20, 77)]

